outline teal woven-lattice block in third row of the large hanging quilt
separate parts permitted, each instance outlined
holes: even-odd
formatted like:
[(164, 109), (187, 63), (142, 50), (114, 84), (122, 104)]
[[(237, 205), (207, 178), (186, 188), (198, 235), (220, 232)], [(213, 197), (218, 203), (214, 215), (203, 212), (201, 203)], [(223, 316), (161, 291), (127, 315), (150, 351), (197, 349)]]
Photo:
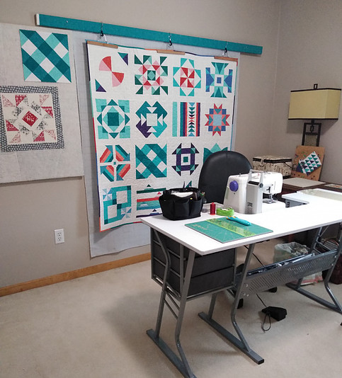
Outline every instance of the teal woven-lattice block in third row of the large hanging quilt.
[(145, 144), (141, 149), (135, 146), (136, 178), (166, 177), (167, 144), (164, 147), (159, 144)]

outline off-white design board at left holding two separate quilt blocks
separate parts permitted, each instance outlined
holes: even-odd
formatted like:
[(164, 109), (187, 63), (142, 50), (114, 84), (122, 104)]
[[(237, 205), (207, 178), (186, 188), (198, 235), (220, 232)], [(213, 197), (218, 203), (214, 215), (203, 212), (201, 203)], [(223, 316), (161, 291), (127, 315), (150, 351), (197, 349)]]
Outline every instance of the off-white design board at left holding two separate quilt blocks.
[(72, 32), (56, 31), (0, 23), (0, 183), (84, 176)]

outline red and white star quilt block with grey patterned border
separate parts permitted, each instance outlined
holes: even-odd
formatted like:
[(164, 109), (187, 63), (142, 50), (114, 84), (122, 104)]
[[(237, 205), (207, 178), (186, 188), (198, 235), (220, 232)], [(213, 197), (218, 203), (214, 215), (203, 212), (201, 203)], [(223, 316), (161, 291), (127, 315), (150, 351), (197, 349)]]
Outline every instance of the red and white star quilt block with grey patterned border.
[(1, 149), (64, 148), (55, 87), (0, 86)]

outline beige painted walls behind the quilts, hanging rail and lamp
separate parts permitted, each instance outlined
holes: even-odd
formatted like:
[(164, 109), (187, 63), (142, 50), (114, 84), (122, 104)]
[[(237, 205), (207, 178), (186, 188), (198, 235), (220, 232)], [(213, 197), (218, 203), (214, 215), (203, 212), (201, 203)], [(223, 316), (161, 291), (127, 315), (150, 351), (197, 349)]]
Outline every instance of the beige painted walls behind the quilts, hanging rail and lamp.
[[(326, 6), (326, 16), (318, 0), (0, 0), (0, 22), (34, 25), (35, 13), (43, 13), (262, 45), (261, 56), (242, 55), (240, 60), (235, 147), (251, 160), (268, 153), (292, 156), (300, 142), (300, 132), (287, 122), (291, 89), (314, 82), (341, 87), (342, 49), (334, 27), (339, 25), (341, 35), (342, 5), (338, 0), (322, 3), (334, 4)], [(312, 25), (307, 15), (314, 17)], [(314, 31), (313, 46), (307, 28)], [(339, 50), (329, 47), (331, 37)], [(329, 70), (319, 69), (326, 65)], [(336, 125), (322, 137), (322, 145), (332, 144), (330, 157), (340, 151), (337, 138), (341, 131)], [(333, 181), (329, 156), (324, 174)], [(83, 178), (0, 185), (0, 204), (0, 287), (148, 251), (146, 246), (90, 258)], [(56, 228), (64, 228), (66, 238), (57, 246)]]

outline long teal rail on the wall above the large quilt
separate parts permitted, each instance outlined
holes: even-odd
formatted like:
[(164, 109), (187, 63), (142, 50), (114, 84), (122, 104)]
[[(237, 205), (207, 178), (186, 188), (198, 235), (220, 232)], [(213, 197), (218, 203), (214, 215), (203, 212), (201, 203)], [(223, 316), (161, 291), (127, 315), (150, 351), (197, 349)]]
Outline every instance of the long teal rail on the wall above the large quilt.
[(65, 18), (58, 16), (48, 16), (37, 13), (36, 25), (48, 28), (59, 28), (67, 30), (78, 30), (88, 33), (103, 33), (105, 35), (118, 35), (127, 38), (139, 38), (142, 40), (156, 40), (168, 43), (170, 36), (172, 43), (180, 45), (190, 45), (196, 47), (207, 47), (216, 50), (236, 51), (245, 54), (261, 55), (262, 46), (246, 45), (244, 43), (227, 42), (222, 40), (211, 40), (209, 38), (191, 37), (190, 35), (170, 34), (155, 30), (131, 28), (129, 26), (112, 25), (94, 21), (76, 20), (75, 18)]

